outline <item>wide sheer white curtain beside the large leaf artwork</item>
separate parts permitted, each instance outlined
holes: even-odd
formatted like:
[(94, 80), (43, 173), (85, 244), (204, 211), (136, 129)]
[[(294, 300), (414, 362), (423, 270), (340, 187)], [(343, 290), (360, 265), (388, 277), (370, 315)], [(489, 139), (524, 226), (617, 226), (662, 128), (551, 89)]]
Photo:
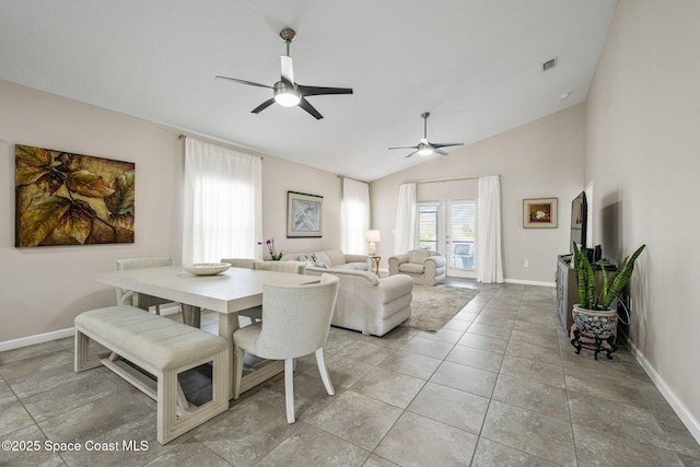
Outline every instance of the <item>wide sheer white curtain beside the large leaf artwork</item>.
[(260, 157), (187, 138), (184, 264), (259, 257), (261, 173)]

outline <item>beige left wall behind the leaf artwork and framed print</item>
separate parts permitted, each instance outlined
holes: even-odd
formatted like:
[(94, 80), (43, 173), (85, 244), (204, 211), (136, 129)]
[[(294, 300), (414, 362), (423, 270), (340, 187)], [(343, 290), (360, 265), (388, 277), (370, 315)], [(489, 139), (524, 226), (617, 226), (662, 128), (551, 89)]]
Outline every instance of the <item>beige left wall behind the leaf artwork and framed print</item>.
[[(117, 258), (180, 259), (184, 144), (178, 132), (133, 117), (0, 81), (0, 345), (72, 327), (82, 311), (115, 303), (95, 282)], [(14, 247), (14, 144), (136, 163), (136, 242)], [(340, 187), (334, 174), (265, 156), (264, 234), (289, 252), (339, 247)], [(287, 190), (324, 196), (324, 237), (287, 240)]]

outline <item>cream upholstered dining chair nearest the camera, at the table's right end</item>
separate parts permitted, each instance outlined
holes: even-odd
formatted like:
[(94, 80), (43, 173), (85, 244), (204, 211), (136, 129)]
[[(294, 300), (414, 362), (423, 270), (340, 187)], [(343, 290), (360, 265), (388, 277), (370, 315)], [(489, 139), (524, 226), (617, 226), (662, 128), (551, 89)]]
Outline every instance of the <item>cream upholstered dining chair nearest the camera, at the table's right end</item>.
[(335, 394), (324, 345), (338, 296), (338, 278), (323, 275), (320, 282), (305, 285), (262, 287), (262, 322), (233, 332), (234, 398), (241, 395), (245, 352), (262, 359), (284, 360), (287, 422), (294, 423), (294, 359), (316, 354), (318, 372), (329, 395)]

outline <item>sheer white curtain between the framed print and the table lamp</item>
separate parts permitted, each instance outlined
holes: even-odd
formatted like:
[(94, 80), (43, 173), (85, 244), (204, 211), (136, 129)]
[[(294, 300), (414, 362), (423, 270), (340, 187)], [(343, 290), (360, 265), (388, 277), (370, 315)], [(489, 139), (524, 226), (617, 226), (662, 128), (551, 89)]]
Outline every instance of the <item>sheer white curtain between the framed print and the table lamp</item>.
[(366, 254), (364, 231), (370, 229), (370, 186), (364, 182), (343, 178), (341, 206), (342, 252)]

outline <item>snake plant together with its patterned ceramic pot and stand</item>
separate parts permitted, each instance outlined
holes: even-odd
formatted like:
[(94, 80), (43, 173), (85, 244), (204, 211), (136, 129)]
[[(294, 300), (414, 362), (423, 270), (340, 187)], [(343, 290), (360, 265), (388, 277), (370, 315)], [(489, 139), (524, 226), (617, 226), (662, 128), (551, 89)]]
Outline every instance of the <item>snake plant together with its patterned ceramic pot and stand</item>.
[(571, 345), (576, 353), (582, 348), (594, 350), (594, 358), (605, 350), (607, 358), (617, 350), (615, 345), (617, 329), (617, 311), (610, 310), (610, 304), (617, 299), (629, 282), (634, 270), (634, 261), (646, 245), (642, 245), (625, 258), (611, 278), (608, 278), (603, 260), (600, 260), (600, 281), (596, 280), (595, 269), (584, 252), (574, 243), (573, 267), (579, 287), (579, 303), (573, 305), (572, 316), (574, 325), (571, 329)]

